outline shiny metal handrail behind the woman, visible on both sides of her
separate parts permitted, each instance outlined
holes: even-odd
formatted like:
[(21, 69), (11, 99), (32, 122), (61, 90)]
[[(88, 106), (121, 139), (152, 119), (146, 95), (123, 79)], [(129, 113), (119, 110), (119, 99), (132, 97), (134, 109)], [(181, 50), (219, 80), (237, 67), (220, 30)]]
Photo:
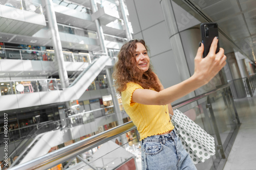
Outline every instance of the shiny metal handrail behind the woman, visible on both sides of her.
[[(195, 102), (199, 99), (202, 99), (214, 92), (217, 92), (217, 91), (219, 91), (223, 88), (229, 87), (229, 86), (230, 86), (230, 84), (223, 85), (215, 90), (211, 90), (211, 91), (201, 94), (199, 96), (195, 96), (194, 98), (185, 100), (184, 102), (178, 103), (178, 104), (174, 105), (173, 108), (174, 109), (180, 108), (182, 106), (185, 106), (189, 103)], [(114, 139), (117, 136), (122, 135), (129, 131), (132, 131), (134, 129), (136, 129), (136, 126), (133, 124), (132, 121), (130, 121), (123, 125), (112, 128), (110, 130), (101, 132), (97, 135), (94, 135), (89, 138), (86, 138), (86, 139), (80, 140), (78, 142), (75, 142), (73, 144), (70, 144), (67, 147), (61, 148), (61, 149), (51, 152), (47, 155), (44, 155), (44, 156), (38, 157), (34, 160), (25, 162), (24, 164), (20, 164), (20, 165), (14, 166), (12, 168), (9, 168), (9, 170), (48, 169), (48, 168), (58, 165), (59, 163), (62, 163), (63, 161), (74, 158), (76, 155), (82, 154), (85, 151), (93, 149), (93, 148), (97, 147), (98, 145), (103, 144), (106, 141)]]

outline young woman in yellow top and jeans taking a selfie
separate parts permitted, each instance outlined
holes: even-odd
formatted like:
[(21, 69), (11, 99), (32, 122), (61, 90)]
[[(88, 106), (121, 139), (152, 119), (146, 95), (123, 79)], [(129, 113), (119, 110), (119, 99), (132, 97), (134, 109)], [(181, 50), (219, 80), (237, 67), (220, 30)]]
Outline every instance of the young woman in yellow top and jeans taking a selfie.
[(170, 103), (207, 84), (226, 64), (222, 48), (215, 54), (217, 42), (218, 37), (206, 58), (202, 58), (200, 42), (194, 75), (166, 89), (152, 71), (143, 40), (131, 40), (121, 47), (113, 78), (124, 110), (140, 134), (142, 169), (196, 169), (168, 113), (173, 114)]

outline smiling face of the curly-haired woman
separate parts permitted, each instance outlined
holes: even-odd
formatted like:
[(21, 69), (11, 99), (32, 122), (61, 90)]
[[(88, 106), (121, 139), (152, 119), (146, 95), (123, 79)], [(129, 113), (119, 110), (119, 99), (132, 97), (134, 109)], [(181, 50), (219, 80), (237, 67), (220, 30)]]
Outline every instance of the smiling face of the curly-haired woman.
[(145, 46), (138, 42), (136, 43), (137, 48), (135, 51), (135, 60), (136, 60), (136, 66), (143, 70), (143, 72), (147, 71), (148, 68), (150, 68), (150, 57), (147, 55), (147, 51)]

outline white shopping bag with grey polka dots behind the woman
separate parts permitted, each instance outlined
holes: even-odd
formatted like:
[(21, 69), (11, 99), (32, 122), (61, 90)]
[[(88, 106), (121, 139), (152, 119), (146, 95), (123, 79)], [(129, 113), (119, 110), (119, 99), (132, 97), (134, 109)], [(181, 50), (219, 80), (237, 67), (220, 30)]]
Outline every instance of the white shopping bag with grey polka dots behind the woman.
[(215, 155), (214, 137), (177, 109), (170, 116), (184, 148), (195, 164)]

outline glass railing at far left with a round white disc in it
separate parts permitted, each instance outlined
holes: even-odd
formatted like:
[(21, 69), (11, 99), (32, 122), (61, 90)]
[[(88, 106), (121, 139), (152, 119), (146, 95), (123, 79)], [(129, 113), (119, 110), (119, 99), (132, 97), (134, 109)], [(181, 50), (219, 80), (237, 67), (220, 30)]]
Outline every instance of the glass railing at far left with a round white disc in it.
[(34, 93), (58, 90), (58, 83), (56, 79), (0, 81), (0, 89), (1, 95)]

